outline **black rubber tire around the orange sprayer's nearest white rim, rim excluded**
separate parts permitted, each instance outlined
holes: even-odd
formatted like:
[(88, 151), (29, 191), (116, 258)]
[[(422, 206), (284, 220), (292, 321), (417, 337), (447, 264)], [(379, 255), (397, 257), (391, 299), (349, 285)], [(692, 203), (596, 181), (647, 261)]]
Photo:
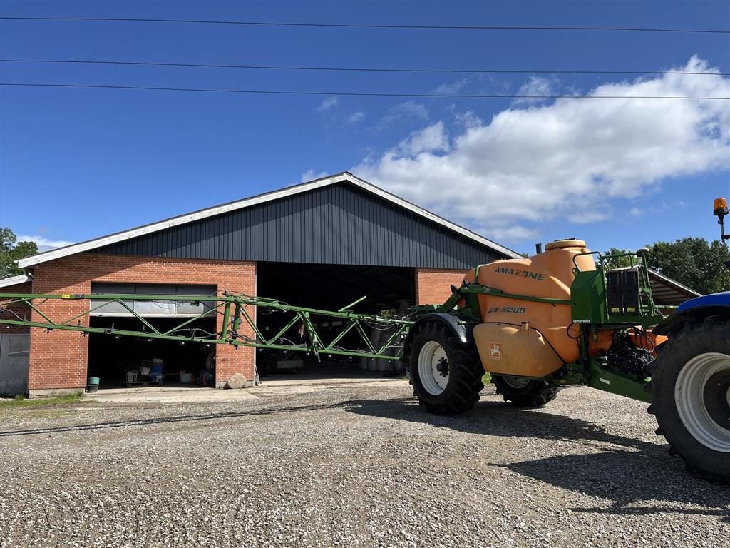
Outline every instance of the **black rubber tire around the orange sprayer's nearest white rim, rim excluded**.
[[(484, 369), (473, 343), (461, 343), (456, 335), (440, 321), (426, 321), (418, 326), (412, 335), (408, 354), (408, 370), (413, 395), (418, 397), (426, 411), (438, 415), (456, 415), (469, 411), (479, 401), (479, 392), (484, 388)], [(446, 354), (447, 384), (439, 394), (433, 394), (424, 387), (420, 378), (418, 357), (427, 343), (438, 343)]]

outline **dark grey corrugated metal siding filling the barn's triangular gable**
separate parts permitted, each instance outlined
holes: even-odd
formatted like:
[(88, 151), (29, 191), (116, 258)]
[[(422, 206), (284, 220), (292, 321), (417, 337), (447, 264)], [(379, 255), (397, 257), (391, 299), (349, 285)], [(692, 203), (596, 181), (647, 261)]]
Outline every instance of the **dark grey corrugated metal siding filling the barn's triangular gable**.
[(504, 258), (348, 183), (193, 221), (92, 252), (459, 269)]

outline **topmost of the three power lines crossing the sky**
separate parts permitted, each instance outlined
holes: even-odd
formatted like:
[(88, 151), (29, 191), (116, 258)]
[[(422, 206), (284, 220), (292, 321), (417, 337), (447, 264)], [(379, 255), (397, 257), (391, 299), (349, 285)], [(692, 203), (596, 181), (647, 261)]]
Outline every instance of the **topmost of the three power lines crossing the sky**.
[(404, 28), (418, 30), (458, 31), (610, 31), (610, 32), (673, 32), (730, 34), (730, 30), (712, 28), (649, 28), (621, 26), (506, 26), (506, 25), (385, 25), (366, 23), (283, 23), (275, 21), (235, 21), (214, 19), (150, 19), (114, 17), (0, 17), (0, 20), (26, 21), (106, 21), (124, 23), (203, 23), (207, 25), (283, 26), (314, 28)]

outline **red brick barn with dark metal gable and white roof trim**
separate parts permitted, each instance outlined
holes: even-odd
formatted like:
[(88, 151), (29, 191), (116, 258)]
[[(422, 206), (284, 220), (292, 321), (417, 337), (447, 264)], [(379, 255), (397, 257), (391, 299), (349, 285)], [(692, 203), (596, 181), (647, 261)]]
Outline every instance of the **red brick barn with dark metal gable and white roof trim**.
[[(21, 259), (18, 265), (32, 282), (18, 278), (21, 285), (1, 291), (30, 292), (31, 283), (37, 294), (228, 290), (335, 310), (366, 295), (356, 311), (379, 312), (403, 303), (443, 302), (469, 268), (513, 256), (510, 249), (345, 172)], [(151, 303), (143, 315), (164, 327), (193, 312), (169, 303), (150, 308)], [(53, 300), (37, 307), (70, 318), (85, 312), (88, 301)], [(124, 312), (102, 308), (80, 321), (139, 329)], [(40, 318), (36, 312), (31, 317)], [(220, 314), (198, 321), (200, 329), (220, 331)], [(256, 321), (267, 329), (269, 319)], [(206, 363), (210, 368), (212, 351), (34, 329), (28, 392), (79, 390), (88, 376), (101, 377), (102, 387), (113, 386), (123, 368), (145, 356), (162, 359), (166, 372), (196, 372)], [(219, 345), (216, 386), (234, 373), (253, 378), (258, 359), (254, 349)]]

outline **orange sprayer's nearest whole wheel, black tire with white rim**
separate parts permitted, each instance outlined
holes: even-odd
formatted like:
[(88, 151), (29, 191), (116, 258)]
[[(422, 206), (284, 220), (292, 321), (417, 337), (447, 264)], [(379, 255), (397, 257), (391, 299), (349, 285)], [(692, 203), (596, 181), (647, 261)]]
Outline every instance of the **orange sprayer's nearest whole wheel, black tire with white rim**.
[(484, 388), (484, 369), (473, 344), (461, 343), (440, 321), (416, 328), (408, 354), (413, 395), (429, 413), (469, 411)]

